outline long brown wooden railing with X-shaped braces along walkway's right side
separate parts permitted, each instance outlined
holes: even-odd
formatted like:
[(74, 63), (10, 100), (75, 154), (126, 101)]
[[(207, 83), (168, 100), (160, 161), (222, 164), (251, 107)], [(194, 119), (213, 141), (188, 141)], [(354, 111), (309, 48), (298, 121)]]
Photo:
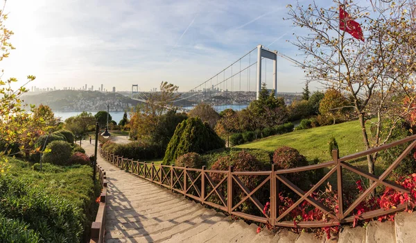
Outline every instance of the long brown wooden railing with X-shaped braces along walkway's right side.
[[(357, 158), (362, 158), (372, 153), (377, 153), (386, 149), (390, 149), (393, 146), (398, 146), (406, 142), (411, 142), (403, 153), (397, 159), (392, 162), (392, 164), (385, 169), (381, 176), (374, 176), (373, 174), (363, 171), (351, 165), (347, 161), (355, 160)], [(390, 144), (385, 144), (383, 146), (376, 147), (374, 149), (369, 149), (367, 151), (361, 151), (359, 153), (354, 153), (349, 156), (344, 156), (339, 158), (339, 153), (337, 149), (332, 151), (333, 160), (329, 162), (323, 162), (318, 165), (309, 165), (305, 167), (296, 167), (291, 169), (276, 169), (275, 165), (272, 165), (270, 171), (233, 171), (233, 167), (230, 166), (227, 171), (217, 171), (209, 170), (206, 167), (202, 169), (194, 169), (189, 167), (175, 167), (171, 165), (154, 165), (153, 163), (149, 164), (146, 162), (139, 162), (131, 160), (128, 158), (123, 158), (122, 156), (116, 156), (112, 153), (108, 153), (100, 149), (101, 156), (105, 160), (111, 162), (116, 167), (130, 171), (132, 174), (135, 174), (141, 178), (144, 178), (148, 181), (156, 183), (166, 187), (172, 191), (184, 194), (191, 199), (201, 202), (202, 204), (207, 204), (208, 206), (218, 208), (227, 212), (229, 215), (235, 215), (237, 217), (242, 217), (252, 221), (258, 221), (261, 223), (267, 223), (272, 226), (286, 226), (286, 227), (303, 227), (303, 228), (313, 228), (313, 227), (326, 227), (326, 226), (337, 226), (339, 224), (348, 223), (354, 221), (356, 215), (352, 215), (353, 210), (366, 199), (371, 192), (374, 192), (374, 189), (378, 185), (385, 185), (391, 187), (399, 192), (407, 192), (404, 187), (397, 185), (390, 181), (385, 181), (388, 175), (395, 169), (400, 162), (410, 153), (410, 151), (416, 146), (416, 135), (406, 137), (403, 140), (398, 140)], [(312, 171), (316, 169), (322, 169), (328, 167), (329, 171), (324, 175), (318, 183), (313, 185), (310, 190), (304, 192), (297, 185), (292, 183), (286, 178), (286, 174), (299, 173), (302, 171)], [(360, 195), (358, 198), (353, 201), (346, 209), (344, 209), (345, 202), (343, 201), (343, 169), (347, 171), (352, 171), (359, 176), (363, 176), (373, 183)], [(315, 199), (312, 194), (315, 190), (318, 189), (329, 177), (333, 174), (336, 174), (337, 180), (337, 193), (338, 193), (338, 210), (331, 210), (327, 206), (324, 206), (323, 203)], [(213, 176), (216, 175), (217, 181), (213, 180)], [(218, 179), (219, 176), (219, 179)], [(221, 177), (222, 176), (222, 177)], [(243, 176), (257, 176), (261, 177), (261, 182), (257, 186), (250, 190), (247, 185), (243, 183), (241, 178)], [(259, 192), (259, 190), (268, 183), (270, 188), (268, 192), (267, 200), (270, 200), (270, 211), (264, 212), (264, 205), (257, 199), (254, 194)], [(279, 215), (279, 187), (281, 185), (288, 187), (291, 192), (300, 196), (300, 199), (295, 201), (290, 208), (287, 208), (284, 212), (281, 212)], [(236, 190), (240, 190), (240, 196), (236, 199), (236, 196), (233, 195)], [(216, 196), (217, 200), (209, 200), (210, 196)], [(326, 219), (315, 220), (315, 221), (300, 221), (297, 223), (297, 226), (293, 221), (285, 221), (285, 217), (294, 210), (297, 206), (300, 205), (303, 201), (308, 201), (311, 206), (321, 210)], [(245, 212), (239, 212), (238, 208), (242, 203), (250, 201), (254, 204), (254, 208), (259, 210), (257, 215), (247, 214)], [(391, 208), (389, 210), (384, 210), (383, 208), (365, 212), (358, 216), (359, 219), (370, 219), (373, 217), (378, 217), (381, 215), (386, 215), (391, 212), (396, 212), (406, 208), (406, 205), (399, 205), (396, 208)]]

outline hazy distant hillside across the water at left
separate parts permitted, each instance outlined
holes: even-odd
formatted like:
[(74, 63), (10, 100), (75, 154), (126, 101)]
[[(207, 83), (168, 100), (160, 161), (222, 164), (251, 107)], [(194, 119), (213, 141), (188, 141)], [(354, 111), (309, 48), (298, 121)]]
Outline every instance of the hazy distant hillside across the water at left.
[(55, 111), (107, 110), (107, 105), (110, 105), (110, 110), (123, 111), (139, 103), (118, 93), (78, 90), (55, 90), (26, 95), (23, 99), (25, 103), (37, 106), (42, 103)]

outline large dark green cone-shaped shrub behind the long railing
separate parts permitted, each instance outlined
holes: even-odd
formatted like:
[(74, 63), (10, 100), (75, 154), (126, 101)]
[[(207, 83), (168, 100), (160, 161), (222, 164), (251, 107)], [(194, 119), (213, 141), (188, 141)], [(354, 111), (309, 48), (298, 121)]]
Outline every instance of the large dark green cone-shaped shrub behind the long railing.
[(205, 153), (224, 146), (224, 140), (208, 124), (202, 123), (198, 117), (191, 117), (177, 125), (163, 162), (165, 165), (171, 164), (184, 153)]

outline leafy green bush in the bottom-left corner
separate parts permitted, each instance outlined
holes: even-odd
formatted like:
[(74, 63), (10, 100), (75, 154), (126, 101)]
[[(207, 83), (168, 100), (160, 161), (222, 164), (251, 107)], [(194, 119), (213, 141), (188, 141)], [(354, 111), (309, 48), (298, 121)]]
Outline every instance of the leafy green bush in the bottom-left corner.
[(0, 215), (0, 242), (40, 242), (39, 235), (28, 229), (20, 219), (7, 219)]

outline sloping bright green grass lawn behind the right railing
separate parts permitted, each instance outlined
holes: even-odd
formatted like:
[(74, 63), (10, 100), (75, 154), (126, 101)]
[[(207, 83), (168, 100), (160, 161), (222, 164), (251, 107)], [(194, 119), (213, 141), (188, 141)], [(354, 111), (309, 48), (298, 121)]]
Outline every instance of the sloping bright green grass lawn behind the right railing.
[(266, 137), (235, 147), (274, 151), (279, 146), (290, 146), (300, 151), (307, 160), (318, 158), (323, 162), (331, 160), (328, 152), (328, 142), (331, 136), (335, 137), (338, 142), (340, 157), (365, 149), (358, 121), (293, 131), (292, 133)]

